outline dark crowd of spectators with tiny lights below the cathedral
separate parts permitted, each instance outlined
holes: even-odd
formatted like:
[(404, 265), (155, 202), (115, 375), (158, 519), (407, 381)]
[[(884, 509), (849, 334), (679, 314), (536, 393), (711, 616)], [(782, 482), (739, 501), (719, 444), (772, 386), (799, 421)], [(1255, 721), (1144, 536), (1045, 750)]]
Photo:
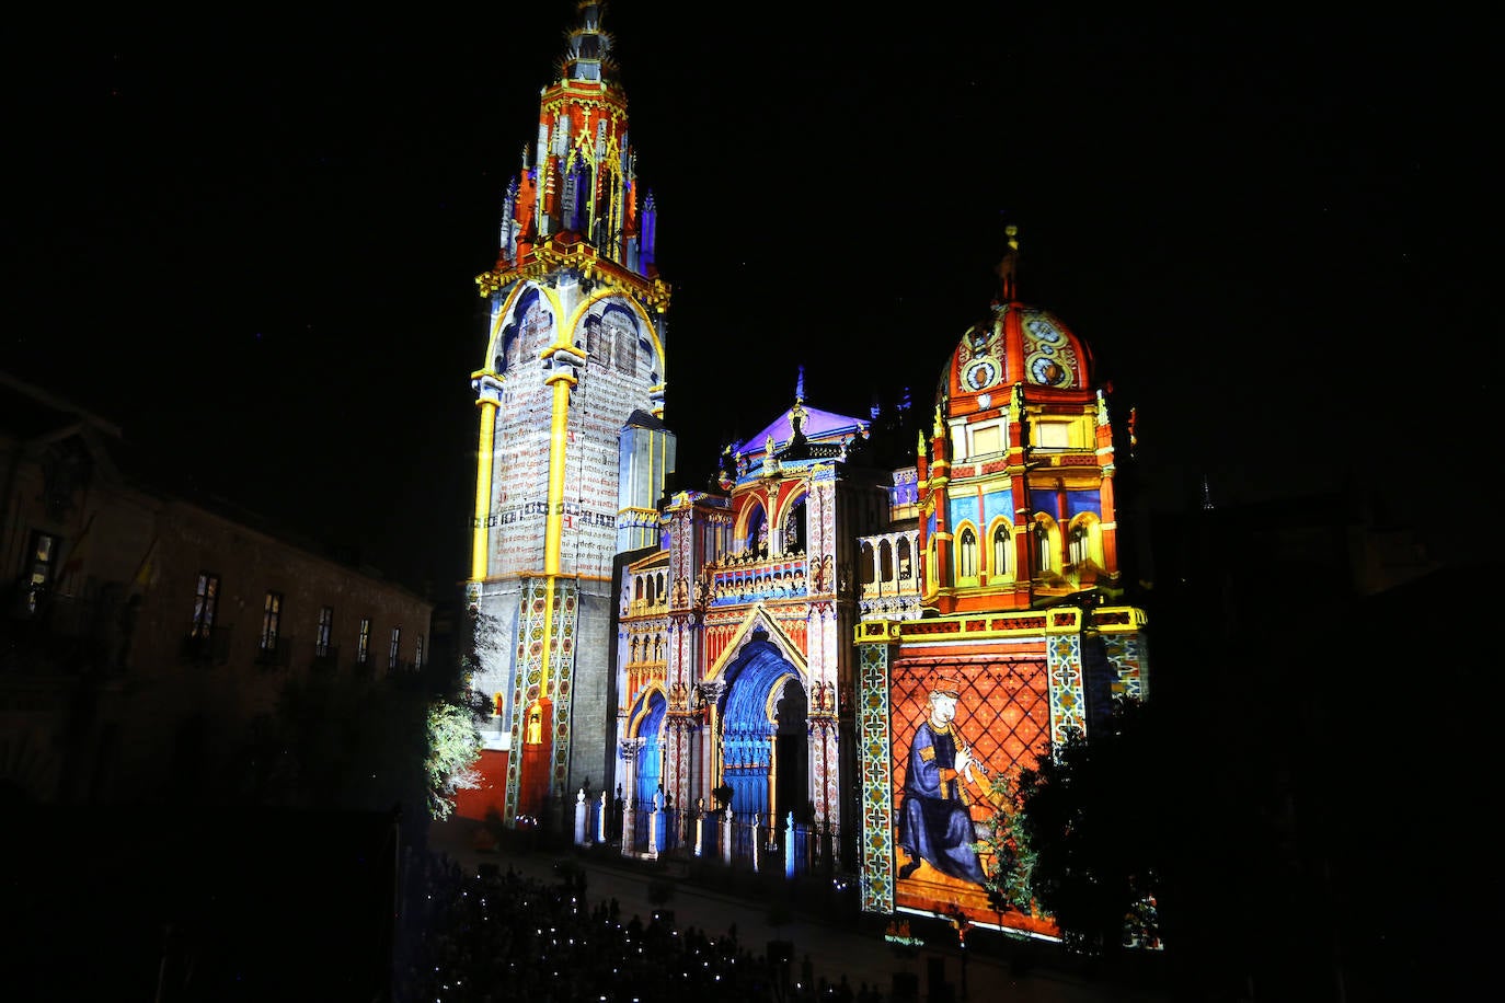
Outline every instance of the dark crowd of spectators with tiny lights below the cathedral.
[(545, 883), (510, 865), (468, 874), (433, 854), (414, 877), (400, 1003), (888, 1003), (846, 976), (811, 979), (808, 958), (749, 950), (736, 926), (712, 935), (664, 914), (623, 917), (616, 899), (591, 904), (581, 869)]

